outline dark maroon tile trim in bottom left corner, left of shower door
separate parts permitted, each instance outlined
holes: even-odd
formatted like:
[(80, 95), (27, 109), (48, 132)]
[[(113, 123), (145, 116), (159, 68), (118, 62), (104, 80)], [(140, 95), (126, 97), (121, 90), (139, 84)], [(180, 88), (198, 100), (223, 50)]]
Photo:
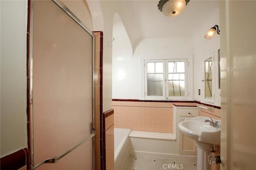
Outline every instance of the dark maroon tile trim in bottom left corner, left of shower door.
[[(28, 149), (20, 149), (17, 152), (4, 156), (0, 160), (0, 169), (1, 170), (17, 170), (22, 168), (26, 164), (27, 169), (29, 170), (30, 159)], [(28, 161), (27, 161), (28, 159)]]

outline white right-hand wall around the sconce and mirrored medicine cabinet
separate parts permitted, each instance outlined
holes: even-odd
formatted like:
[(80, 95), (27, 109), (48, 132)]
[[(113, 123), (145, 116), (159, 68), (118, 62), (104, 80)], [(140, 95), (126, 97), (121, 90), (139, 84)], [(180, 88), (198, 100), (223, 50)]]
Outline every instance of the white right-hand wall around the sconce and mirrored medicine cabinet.
[[(212, 39), (204, 38), (206, 31), (214, 25), (219, 25), (220, 33), (222, 25), (219, 20), (219, 8), (212, 10), (208, 20), (203, 21), (202, 25), (198, 26), (193, 35), (194, 41), (194, 100), (204, 102), (204, 60), (208, 54), (215, 53), (215, 101), (214, 105), (220, 106), (220, 90), (218, 90), (218, 49), (220, 49), (220, 35), (217, 33)], [(201, 90), (201, 95), (198, 95), (198, 89)]]

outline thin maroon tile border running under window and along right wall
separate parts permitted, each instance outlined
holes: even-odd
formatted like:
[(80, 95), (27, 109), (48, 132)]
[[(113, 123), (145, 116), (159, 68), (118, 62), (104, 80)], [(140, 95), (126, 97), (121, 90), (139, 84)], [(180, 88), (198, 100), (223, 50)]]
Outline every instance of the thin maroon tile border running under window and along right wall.
[[(214, 107), (216, 109), (220, 109), (220, 106), (214, 106), (211, 104), (204, 104), (201, 103), (198, 100), (194, 101), (179, 101), (179, 100), (139, 100), (139, 99), (112, 99), (112, 101), (119, 101), (119, 102), (164, 102), (164, 103), (197, 103), (197, 104), (203, 104), (204, 106), (208, 107)], [(181, 105), (179, 105), (181, 106)], [(196, 107), (196, 106), (195, 106)]]

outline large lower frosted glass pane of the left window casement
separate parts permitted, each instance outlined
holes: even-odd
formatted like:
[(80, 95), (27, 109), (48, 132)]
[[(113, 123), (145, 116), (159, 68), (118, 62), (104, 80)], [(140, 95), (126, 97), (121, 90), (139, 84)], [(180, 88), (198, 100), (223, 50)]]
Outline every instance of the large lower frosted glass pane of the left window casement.
[(148, 74), (148, 96), (163, 96), (163, 74)]

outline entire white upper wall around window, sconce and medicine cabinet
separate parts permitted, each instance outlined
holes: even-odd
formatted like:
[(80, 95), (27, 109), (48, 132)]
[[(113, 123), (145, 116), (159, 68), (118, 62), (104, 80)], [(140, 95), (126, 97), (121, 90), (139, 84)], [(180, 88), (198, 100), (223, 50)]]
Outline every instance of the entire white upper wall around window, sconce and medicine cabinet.
[[(216, 8), (216, 9), (212, 9)], [(143, 68), (145, 59), (184, 59), (189, 62), (189, 99), (204, 101), (204, 60), (210, 52), (215, 52), (216, 81), (214, 105), (220, 106), (220, 90), (218, 90), (218, 49), (220, 49), (220, 35), (215, 35), (211, 40), (206, 40), (206, 31), (214, 25), (219, 24), (219, 8), (212, 7), (208, 20), (203, 20), (201, 25), (194, 30), (191, 37), (164, 37), (142, 39), (132, 56), (130, 51), (130, 40), (125, 28), (113, 28), (113, 80), (112, 98), (140, 99), (144, 98)], [(115, 26), (114, 26), (115, 27)], [(189, 27), (188, 27), (189, 29)], [(123, 30), (123, 31), (121, 31)], [(116, 33), (116, 31), (118, 33)], [(116, 35), (115, 35), (116, 34)], [(118, 38), (119, 36), (120, 38)], [(121, 78), (123, 78), (121, 80)], [(201, 95), (198, 95), (198, 89)]]

